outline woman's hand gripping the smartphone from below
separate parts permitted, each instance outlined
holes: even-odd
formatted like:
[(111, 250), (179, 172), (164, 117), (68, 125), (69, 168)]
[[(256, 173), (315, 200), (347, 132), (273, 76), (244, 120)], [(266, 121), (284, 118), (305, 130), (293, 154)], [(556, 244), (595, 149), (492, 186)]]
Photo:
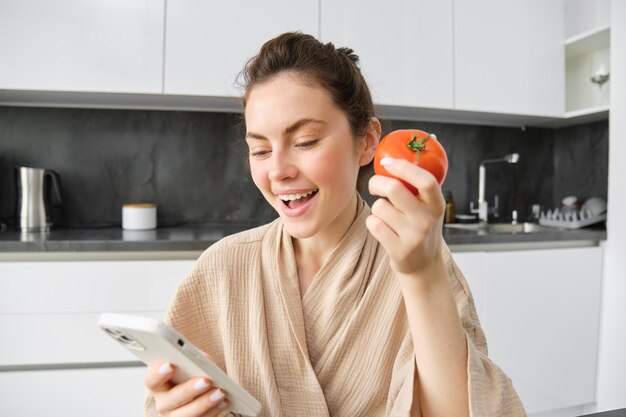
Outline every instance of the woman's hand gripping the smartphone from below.
[(176, 365), (159, 363), (148, 369), (145, 384), (162, 417), (214, 417), (228, 407), (225, 393), (208, 378), (190, 378), (178, 385), (171, 382)]

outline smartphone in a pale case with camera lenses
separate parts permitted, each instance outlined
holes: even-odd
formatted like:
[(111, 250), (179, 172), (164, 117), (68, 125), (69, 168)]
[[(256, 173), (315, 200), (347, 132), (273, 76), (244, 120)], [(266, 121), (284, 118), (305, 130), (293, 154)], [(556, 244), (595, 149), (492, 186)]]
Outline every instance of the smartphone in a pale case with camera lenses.
[(205, 376), (224, 390), (233, 413), (257, 416), (261, 412), (261, 403), (167, 324), (149, 317), (103, 313), (98, 326), (146, 365), (159, 361), (176, 365), (173, 383)]

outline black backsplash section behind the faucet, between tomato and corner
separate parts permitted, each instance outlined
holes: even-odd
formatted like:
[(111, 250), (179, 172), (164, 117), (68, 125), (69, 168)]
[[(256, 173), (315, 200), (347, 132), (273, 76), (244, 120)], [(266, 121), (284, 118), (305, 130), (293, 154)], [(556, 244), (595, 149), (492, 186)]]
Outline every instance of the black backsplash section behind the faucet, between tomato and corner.
[(499, 159), (517, 152), (516, 164), (486, 165), (485, 198), (492, 206), (498, 196), (500, 220), (530, 214), (530, 206), (552, 203), (554, 176), (552, 129), (522, 130), (490, 126), (441, 123), (393, 122), (393, 129), (418, 127), (437, 134), (448, 153), (448, 176), (444, 192), (451, 191), (457, 213), (469, 213), (470, 202), (478, 201), (478, 167), (485, 159)]

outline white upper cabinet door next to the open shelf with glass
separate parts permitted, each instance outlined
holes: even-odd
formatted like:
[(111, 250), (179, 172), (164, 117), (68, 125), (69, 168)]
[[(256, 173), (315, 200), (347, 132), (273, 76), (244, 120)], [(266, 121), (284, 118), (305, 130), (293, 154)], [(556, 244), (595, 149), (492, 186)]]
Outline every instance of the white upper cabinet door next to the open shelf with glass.
[(455, 107), (562, 117), (563, 1), (454, 2)]

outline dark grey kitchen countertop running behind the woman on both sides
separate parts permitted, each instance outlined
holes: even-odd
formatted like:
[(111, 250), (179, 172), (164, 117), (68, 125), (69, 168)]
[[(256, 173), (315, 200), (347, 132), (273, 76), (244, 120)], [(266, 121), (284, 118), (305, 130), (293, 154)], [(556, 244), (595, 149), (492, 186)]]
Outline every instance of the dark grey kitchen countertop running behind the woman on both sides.
[[(120, 227), (98, 229), (53, 229), (48, 233), (0, 231), (0, 254), (11, 252), (200, 252), (224, 236), (254, 225), (185, 225), (148, 231), (127, 231)], [(597, 245), (606, 240), (604, 227), (578, 230), (548, 229), (537, 233), (486, 233), (443, 229), (446, 243), (463, 248), (502, 246), (504, 244), (573, 246)], [(570, 246), (571, 246), (570, 245)], [(504, 245), (507, 246), (507, 245)], [(474, 249), (475, 250), (475, 249)]]

